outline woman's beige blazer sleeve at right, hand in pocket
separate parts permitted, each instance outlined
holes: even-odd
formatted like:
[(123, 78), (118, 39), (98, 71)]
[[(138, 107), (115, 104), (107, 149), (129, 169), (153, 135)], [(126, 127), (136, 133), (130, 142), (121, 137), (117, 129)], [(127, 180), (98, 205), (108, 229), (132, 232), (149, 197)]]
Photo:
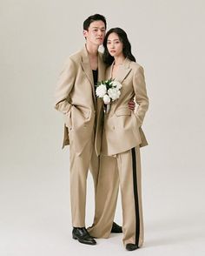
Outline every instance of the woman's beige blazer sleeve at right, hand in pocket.
[(134, 73), (133, 85), (136, 94), (136, 103), (138, 104), (136, 109), (136, 118), (139, 120), (139, 126), (141, 126), (145, 113), (149, 108), (149, 98), (147, 96), (144, 71), (142, 66), (138, 67)]

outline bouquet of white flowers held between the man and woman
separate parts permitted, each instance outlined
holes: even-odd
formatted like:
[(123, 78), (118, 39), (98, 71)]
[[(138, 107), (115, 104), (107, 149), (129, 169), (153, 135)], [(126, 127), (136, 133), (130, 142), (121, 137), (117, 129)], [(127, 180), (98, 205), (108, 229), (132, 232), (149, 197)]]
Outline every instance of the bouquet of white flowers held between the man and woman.
[(96, 97), (102, 98), (104, 104), (106, 105), (107, 113), (109, 112), (110, 103), (120, 97), (121, 88), (122, 84), (115, 81), (114, 79), (97, 82)]

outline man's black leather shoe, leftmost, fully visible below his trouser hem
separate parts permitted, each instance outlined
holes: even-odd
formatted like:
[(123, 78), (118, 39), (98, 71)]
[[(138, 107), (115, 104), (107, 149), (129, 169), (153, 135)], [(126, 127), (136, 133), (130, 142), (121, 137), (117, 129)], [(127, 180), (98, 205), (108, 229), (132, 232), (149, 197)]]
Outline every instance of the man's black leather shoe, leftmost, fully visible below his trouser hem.
[(93, 239), (85, 227), (74, 227), (72, 231), (73, 239), (77, 239), (80, 243), (95, 246), (96, 240)]

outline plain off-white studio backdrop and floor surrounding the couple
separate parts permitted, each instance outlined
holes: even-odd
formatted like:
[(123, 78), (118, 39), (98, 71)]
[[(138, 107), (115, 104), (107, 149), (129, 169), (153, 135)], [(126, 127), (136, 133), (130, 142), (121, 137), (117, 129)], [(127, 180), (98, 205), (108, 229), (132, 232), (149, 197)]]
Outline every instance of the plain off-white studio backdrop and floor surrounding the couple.
[[(204, 10), (202, 0), (0, 2), (0, 255), (125, 253), (122, 236), (94, 247), (71, 239), (69, 150), (53, 107), (58, 73), (95, 13), (108, 29), (127, 31), (146, 75), (145, 244), (137, 253), (204, 255)], [(89, 176), (88, 226), (93, 209)]]

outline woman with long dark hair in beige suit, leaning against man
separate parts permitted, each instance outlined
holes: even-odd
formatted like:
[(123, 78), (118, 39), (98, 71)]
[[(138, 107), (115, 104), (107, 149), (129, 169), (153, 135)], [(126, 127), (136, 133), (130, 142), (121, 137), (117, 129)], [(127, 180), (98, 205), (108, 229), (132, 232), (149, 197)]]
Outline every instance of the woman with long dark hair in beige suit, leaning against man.
[[(108, 238), (116, 208), (119, 179), (122, 194), (123, 243), (129, 251), (143, 242), (140, 146), (147, 145), (142, 121), (149, 106), (142, 66), (136, 64), (124, 30), (114, 28), (104, 39), (103, 59), (108, 68), (106, 77), (122, 84), (121, 95), (105, 113), (102, 132), (101, 169), (96, 194), (95, 225), (89, 233)], [(136, 112), (128, 102), (136, 99)], [(109, 169), (109, 159), (116, 159), (116, 168)]]

